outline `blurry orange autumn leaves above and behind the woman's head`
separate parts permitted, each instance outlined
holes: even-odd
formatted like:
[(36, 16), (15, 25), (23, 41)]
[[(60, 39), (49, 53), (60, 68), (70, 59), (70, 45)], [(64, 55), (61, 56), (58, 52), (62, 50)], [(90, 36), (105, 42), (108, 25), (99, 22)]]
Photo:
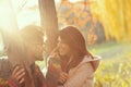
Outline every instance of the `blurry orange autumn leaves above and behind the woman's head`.
[(90, 8), (92, 2), (82, 0), (72, 3), (69, 0), (61, 0), (58, 9), (59, 26), (74, 25), (79, 27), (87, 45), (105, 40), (104, 27), (99, 21), (93, 20)]

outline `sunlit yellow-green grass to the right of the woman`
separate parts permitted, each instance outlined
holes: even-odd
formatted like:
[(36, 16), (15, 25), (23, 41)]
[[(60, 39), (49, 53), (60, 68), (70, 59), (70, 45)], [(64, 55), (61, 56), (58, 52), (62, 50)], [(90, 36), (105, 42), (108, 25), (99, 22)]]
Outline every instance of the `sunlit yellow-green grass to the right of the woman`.
[(102, 57), (94, 87), (131, 87), (131, 44), (106, 42), (88, 50)]

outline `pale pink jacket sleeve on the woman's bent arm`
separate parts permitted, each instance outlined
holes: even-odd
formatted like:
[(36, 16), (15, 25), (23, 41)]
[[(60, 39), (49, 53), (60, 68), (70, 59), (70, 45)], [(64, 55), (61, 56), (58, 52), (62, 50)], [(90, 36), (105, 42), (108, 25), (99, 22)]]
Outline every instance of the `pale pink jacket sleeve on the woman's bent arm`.
[[(75, 73), (69, 77), (69, 79), (58, 87), (82, 87), (85, 80), (88, 78), (88, 83), (93, 83), (94, 71), (90, 62), (83, 63), (78, 67)], [(92, 87), (91, 85), (86, 87)]]

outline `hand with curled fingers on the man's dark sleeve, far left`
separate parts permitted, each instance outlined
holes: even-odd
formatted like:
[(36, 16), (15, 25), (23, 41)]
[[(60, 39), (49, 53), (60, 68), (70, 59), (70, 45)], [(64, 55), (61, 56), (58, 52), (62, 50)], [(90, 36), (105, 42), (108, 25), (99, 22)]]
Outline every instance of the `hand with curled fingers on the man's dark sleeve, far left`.
[(25, 76), (24, 67), (19, 65), (13, 70), (13, 73), (11, 75), (11, 77), (19, 82), (19, 84), (22, 84), (24, 82), (24, 76)]

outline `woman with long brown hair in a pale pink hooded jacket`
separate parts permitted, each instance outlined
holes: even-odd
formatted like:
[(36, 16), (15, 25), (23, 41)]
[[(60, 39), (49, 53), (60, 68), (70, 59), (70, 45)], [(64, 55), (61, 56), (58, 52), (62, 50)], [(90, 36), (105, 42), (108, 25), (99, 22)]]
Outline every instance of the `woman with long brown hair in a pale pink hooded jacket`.
[(93, 87), (99, 60), (86, 50), (82, 34), (76, 27), (68, 26), (60, 30), (58, 40), (58, 52), (62, 57), (58, 87)]

